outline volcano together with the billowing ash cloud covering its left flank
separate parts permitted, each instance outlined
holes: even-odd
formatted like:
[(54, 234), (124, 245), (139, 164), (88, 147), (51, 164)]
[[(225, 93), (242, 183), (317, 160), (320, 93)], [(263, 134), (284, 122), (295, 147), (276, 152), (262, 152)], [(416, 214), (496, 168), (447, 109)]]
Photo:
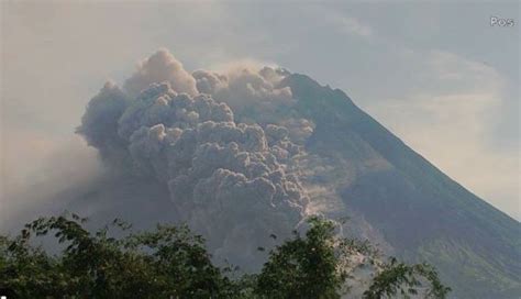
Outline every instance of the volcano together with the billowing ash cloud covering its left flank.
[(13, 222), (63, 209), (93, 223), (187, 222), (215, 259), (255, 272), (270, 234), (281, 242), (313, 213), (347, 217), (342, 233), (433, 264), (455, 298), (521, 294), (520, 223), (307, 76), (188, 73), (160, 49), (121, 88), (106, 84), (77, 132), (107, 174), (60, 188)]

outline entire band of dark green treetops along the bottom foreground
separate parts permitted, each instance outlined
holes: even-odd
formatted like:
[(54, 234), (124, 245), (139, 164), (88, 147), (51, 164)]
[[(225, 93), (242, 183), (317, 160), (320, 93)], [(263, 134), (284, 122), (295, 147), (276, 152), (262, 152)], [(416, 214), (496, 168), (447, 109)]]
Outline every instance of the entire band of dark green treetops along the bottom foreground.
[[(212, 265), (203, 240), (186, 226), (132, 233), (114, 221), (123, 235), (115, 237), (109, 226), (89, 233), (82, 222), (75, 214), (41, 218), (14, 239), (2, 236), (0, 287), (21, 298), (340, 298), (348, 290), (350, 255), (372, 252), (366, 243), (336, 237), (331, 221), (311, 218), (306, 235), (295, 233), (270, 251), (258, 275), (232, 279), (236, 273)], [(49, 255), (31, 246), (35, 235), (56, 237), (62, 252)], [(429, 265), (391, 259), (381, 264), (364, 297), (418, 290), (428, 298), (450, 291)]]

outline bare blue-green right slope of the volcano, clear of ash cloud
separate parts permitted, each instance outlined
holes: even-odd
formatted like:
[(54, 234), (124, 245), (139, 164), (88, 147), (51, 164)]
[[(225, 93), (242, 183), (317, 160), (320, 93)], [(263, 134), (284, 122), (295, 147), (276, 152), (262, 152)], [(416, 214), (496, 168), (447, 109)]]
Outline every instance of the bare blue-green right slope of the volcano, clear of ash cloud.
[(315, 124), (306, 150), (321, 170), (307, 181), (342, 198), (318, 209), (350, 214), (354, 233), (379, 240), (389, 253), (432, 263), (457, 298), (519, 298), (519, 222), (448, 178), (341, 90), (303, 75), (281, 86)]

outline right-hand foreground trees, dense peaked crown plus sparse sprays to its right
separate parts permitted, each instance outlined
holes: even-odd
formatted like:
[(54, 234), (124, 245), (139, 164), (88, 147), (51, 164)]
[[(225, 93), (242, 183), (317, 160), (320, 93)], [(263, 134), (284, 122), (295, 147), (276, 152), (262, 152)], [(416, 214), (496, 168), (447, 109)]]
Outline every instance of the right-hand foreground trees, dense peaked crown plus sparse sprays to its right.
[[(348, 291), (345, 283), (353, 269), (350, 267), (353, 254), (364, 254), (367, 263), (377, 263), (378, 252), (367, 242), (337, 237), (329, 220), (312, 217), (308, 222), (310, 229), (304, 237), (296, 233), (293, 240), (270, 252), (257, 277), (254, 292), (258, 297), (341, 298)], [(390, 258), (380, 265), (364, 298), (389, 298), (397, 294), (407, 297), (421, 291), (424, 297), (443, 299), (450, 288), (441, 284), (433, 267), (407, 265)]]

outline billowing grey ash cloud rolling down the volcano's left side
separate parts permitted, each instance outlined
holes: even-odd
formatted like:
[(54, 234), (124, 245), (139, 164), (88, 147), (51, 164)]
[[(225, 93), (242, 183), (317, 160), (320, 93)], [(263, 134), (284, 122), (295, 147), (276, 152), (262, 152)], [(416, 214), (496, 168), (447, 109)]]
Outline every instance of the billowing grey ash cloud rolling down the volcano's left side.
[(167, 186), (180, 220), (207, 237), (218, 258), (255, 268), (252, 262), (264, 258), (257, 246), (288, 235), (308, 203), (297, 178), (306, 155), (298, 144), (313, 124), (275, 113), (295, 102), (278, 88), (287, 74), (265, 67), (190, 75), (159, 51), (123, 90), (107, 84), (78, 132), (109, 165)]

